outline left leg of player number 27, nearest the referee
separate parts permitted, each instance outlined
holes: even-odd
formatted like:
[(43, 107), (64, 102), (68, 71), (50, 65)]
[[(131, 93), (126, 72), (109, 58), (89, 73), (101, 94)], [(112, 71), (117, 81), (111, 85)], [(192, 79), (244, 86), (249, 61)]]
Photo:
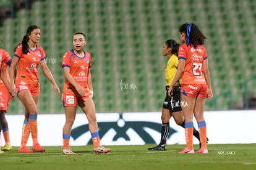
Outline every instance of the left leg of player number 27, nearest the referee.
[(187, 95), (181, 95), (181, 107), (185, 117), (185, 136), (187, 147), (179, 153), (194, 153), (193, 149), (193, 111), (195, 106), (195, 99), (193, 97), (187, 97)]

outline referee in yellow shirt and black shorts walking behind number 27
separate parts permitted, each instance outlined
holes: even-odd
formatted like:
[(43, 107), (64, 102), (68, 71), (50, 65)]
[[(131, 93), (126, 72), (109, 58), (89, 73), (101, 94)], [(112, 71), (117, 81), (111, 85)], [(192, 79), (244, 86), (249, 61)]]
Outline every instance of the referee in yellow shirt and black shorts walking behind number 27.
[[(148, 148), (148, 150), (166, 150), (166, 139), (169, 136), (170, 125), (169, 119), (173, 116), (176, 124), (184, 127), (184, 115), (181, 109), (181, 79), (176, 81), (174, 84), (174, 92), (171, 97), (168, 95), (169, 85), (173, 81), (174, 75), (177, 71), (178, 58), (177, 53), (179, 49), (179, 44), (173, 40), (169, 39), (164, 42), (163, 45), (163, 55), (168, 57), (168, 63), (165, 68), (165, 78), (166, 78), (166, 97), (163, 103), (162, 109), (162, 128), (161, 128), (161, 141), (160, 144), (153, 148)], [(199, 132), (194, 129), (194, 136), (199, 139)]]

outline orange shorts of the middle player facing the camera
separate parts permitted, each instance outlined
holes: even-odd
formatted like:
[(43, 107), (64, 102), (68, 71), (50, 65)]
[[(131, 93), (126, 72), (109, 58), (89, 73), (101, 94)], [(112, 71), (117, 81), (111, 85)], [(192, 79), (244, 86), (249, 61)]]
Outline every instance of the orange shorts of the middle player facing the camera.
[(92, 97), (90, 97), (90, 95), (78, 96), (74, 94), (62, 93), (61, 101), (64, 107), (76, 107), (81, 100), (87, 99), (87, 98), (92, 98)]

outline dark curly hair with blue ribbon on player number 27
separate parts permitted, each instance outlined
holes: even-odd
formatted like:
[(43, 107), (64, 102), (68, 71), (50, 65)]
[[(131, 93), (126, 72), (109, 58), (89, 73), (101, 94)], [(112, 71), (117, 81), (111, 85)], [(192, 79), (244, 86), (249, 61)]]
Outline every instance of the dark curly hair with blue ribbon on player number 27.
[(179, 27), (179, 32), (186, 34), (187, 46), (189, 46), (189, 44), (195, 47), (203, 45), (205, 39), (207, 39), (194, 23), (184, 23)]

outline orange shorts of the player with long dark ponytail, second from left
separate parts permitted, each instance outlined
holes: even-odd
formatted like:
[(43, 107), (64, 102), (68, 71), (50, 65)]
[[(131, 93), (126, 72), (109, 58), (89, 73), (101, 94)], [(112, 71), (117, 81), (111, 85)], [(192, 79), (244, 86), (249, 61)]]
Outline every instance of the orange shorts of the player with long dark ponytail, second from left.
[(27, 84), (24, 83), (23, 81), (15, 81), (15, 86), (17, 89), (17, 95), (21, 91), (30, 91), (32, 95), (40, 94), (40, 84)]

